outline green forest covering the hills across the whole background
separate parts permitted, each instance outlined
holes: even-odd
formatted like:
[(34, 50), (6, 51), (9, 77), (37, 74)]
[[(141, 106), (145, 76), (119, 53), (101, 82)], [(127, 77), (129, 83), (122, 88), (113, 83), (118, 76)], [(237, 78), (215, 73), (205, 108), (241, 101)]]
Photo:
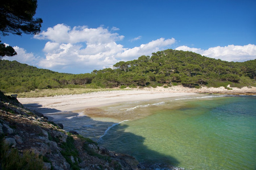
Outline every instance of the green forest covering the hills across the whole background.
[(65, 74), (38, 69), (16, 61), (0, 60), (0, 90), (26, 92), (46, 88), (106, 88), (176, 86), (200, 88), (255, 86), (256, 59), (227, 62), (193, 52), (167, 49), (133, 61), (115, 63), (113, 69)]

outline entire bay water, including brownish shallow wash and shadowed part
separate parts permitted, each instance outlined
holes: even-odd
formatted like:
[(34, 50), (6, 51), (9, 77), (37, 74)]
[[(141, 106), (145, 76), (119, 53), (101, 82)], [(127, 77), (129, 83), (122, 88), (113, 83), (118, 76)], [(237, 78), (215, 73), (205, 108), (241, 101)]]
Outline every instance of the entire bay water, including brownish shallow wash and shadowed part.
[(134, 99), (57, 114), (64, 130), (153, 169), (256, 169), (256, 96)]

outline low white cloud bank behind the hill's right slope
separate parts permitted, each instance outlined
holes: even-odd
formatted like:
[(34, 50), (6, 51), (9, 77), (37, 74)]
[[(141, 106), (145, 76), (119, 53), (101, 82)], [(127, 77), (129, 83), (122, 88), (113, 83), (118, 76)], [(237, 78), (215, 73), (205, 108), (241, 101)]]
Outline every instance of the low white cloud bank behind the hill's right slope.
[(216, 46), (203, 50), (200, 48), (190, 48), (188, 46), (179, 46), (176, 50), (191, 51), (199, 53), (202, 56), (221, 59), (224, 61), (243, 62), (256, 59), (256, 45), (228, 45)]

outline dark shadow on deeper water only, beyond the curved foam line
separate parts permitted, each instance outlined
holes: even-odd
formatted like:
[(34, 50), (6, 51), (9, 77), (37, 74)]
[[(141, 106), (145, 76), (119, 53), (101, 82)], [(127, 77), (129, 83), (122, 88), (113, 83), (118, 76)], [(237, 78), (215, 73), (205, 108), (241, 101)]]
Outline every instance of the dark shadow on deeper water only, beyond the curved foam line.
[(128, 125), (114, 126), (109, 132), (110, 135), (106, 134), (102, 137), (100, 145), (115, 152), (132, 155), (148, 169), (172, 169), (174, 168), (172, 166), (179, 165), (179, 161), (174, 157), (161, 154), (144, 145), (146, 138), (125, 131), (128, 127)]

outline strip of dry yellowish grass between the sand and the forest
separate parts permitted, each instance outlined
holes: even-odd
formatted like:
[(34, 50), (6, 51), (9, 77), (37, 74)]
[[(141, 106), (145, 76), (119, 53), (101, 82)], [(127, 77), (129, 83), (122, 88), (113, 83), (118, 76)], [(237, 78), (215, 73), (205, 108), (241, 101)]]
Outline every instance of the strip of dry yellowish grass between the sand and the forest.
[[(99, 91), (113, 91), (113, 90), (123, 90), (120, 88), (56, 88), (56, 89), (43, 89), (34, 90), (30, 92), (18, 93), (18, 97), (50, 97), (59, 95), (77, 95), (77, 94), (87, 94), (91, 92)], [(5, 95), (12, 95), (11, 93), (6, 93)]]

